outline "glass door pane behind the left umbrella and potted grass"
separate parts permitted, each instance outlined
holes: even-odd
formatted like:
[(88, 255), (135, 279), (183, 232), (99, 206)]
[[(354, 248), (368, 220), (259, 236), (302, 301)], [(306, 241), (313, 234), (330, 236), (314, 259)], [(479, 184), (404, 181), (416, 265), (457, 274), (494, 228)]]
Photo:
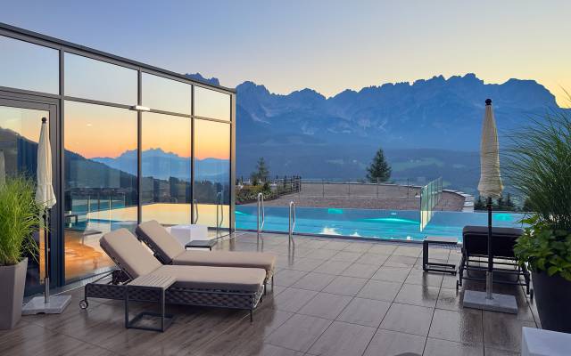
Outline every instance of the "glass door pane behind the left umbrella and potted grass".
[[(42, 117), (49, 118), (49, 112), (0, 106), (0, 184), (14, 174), (29, 175), (36, 180), (37, 142)], [(35, 233), (34, 239), (40, 247), (39, 258), (37, 255), (28, 256), (26, 294), (35, 293), (32, 291), (37, 291), (44, 278), (43, 231)]]

